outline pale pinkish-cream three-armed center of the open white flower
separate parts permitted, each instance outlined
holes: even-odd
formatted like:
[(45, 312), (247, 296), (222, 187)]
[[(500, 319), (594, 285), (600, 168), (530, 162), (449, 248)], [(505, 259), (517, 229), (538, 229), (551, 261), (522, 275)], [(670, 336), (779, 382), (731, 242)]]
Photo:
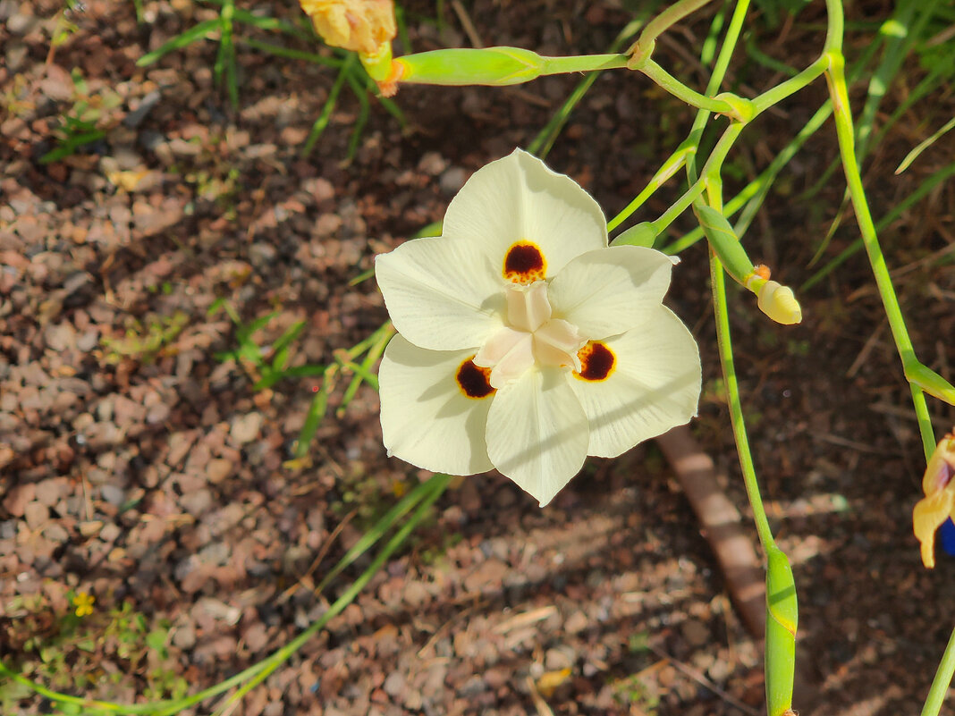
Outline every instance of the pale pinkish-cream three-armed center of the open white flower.
[(517, 380), (535, 365), (581, 370), (577, 352), (586, 339), (577, 326), (551, 316), (546, 281), (509, 285), (505, 298), (506, 326), (474, 358), (476, 366), (491, 369), (492, 388)]

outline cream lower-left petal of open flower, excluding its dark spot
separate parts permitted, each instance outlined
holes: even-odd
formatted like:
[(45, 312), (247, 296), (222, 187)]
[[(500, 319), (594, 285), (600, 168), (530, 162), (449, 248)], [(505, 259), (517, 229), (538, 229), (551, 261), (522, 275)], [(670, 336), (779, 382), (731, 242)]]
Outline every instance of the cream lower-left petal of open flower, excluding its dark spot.
[(469, 398), (457, 369), (473, 351), (419, 348), (400, 335), (378, 369), (381, 432), (388, 453), (435, 473), (476, 474), (493, 466), (484, 433), (494, 394)]

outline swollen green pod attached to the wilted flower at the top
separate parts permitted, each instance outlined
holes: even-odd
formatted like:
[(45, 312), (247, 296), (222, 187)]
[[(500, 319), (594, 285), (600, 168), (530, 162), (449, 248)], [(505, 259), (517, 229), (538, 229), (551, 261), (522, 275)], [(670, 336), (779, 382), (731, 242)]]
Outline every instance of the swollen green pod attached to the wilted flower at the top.
[(406, 54), (394, 60), (401, 82), (427, 85), (516, 85), (541, 76), (540, 54), (516, 47), (453, 48)]

